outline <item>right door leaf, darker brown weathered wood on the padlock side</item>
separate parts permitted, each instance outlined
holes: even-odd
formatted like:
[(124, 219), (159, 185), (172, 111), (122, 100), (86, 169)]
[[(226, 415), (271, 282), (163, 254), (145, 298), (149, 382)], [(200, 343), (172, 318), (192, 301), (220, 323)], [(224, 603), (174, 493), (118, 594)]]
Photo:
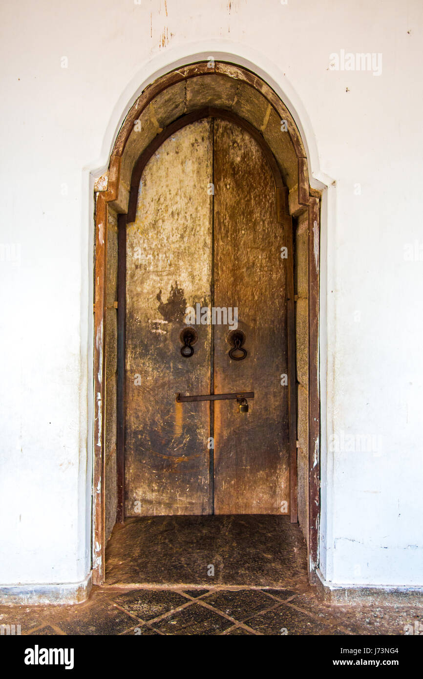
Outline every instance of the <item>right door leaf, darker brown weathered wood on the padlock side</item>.
[(272, 172), (238, 126), (215, 120), (215, 300), (238, 307), (246, 359), (215, 327), (215, 393), (253, 390), (248, 414), (215, 402), (215, 513), (289, 513), (286, 265)]

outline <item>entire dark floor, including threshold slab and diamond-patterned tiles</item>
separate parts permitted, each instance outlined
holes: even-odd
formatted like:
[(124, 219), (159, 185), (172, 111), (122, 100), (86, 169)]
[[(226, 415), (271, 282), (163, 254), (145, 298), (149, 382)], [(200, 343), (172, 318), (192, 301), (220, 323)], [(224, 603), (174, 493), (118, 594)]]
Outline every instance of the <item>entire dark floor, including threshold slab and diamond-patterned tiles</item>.
[(323, 604), (308, 585), (301, 530), (284, 516), (128, 519), (106, 556), (107, 584), (88, 601), (0, 606), (0, 625), (45, 635), (403, 635), (423, 619), (418, 606)]

